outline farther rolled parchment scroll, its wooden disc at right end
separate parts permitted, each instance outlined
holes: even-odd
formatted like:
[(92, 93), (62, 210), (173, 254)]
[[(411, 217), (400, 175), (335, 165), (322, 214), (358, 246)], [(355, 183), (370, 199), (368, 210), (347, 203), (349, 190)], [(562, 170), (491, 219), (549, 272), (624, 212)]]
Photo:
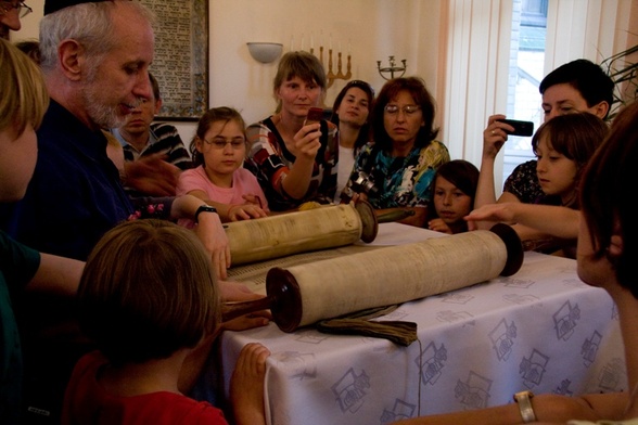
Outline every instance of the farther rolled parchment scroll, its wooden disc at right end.
[(321, 206), (226, 226), (232, 266), (334, 248), (359, 239), (369, 243), (379, 230), (374, 209), (367, 202)]

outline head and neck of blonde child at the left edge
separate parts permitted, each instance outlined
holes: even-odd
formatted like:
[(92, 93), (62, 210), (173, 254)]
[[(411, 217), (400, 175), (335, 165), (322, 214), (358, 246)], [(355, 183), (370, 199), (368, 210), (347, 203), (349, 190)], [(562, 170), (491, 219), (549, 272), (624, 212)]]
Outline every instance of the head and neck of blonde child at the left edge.
[(49, 105), (38, 66), (0, 39), (0, 201), (21, 199), (37, 159), (35, 130)]

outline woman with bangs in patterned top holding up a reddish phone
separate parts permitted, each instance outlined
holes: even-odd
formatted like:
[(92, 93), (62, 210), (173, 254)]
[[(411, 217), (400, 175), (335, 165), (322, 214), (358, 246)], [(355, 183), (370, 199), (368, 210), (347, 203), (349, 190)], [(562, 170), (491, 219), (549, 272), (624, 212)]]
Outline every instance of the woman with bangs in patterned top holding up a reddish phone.
[(311, 53), (285, 53), (277, 69), (273, 115), (246, 129), (251, 144), (244, 167), (259, 180), (273, 211), (306, 202), (330, 204), (336, 191), (336, 126), (321, 119), (306, 123), (326, 94), (326, 72)]

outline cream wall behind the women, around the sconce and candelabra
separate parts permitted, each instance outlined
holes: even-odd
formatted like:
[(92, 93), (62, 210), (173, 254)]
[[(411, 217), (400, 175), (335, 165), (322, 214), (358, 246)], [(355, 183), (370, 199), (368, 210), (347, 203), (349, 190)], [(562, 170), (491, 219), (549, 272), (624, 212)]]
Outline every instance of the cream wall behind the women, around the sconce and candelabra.
[[(50, 0), (49, 0), (50, 1)], [(336, 51), (341, 42), (343, 72), (348, 46), (352, 49), (352, 79), (369, 81), (377, 92), (384, 79), (377, 61), (388, 65), (406, 59), (406, 75), (423, 77), (433, 93), (437, 91), (439, 10), (442, 0), (210, 0), (209, 1), (209, 107), (233, 106), (246, 123), (270, 115), (276, 106), (272, 78), (277, 61), (261, 64), (248, 53), (248, 41), (283, 43), (283, 51), (310, 49), (316, 54), (323, 38), (324, 64), (328, 44)], [(23, 20), (23, 28), (12, 40), (38, 38), (43, 0), (29, 0), (34, 13)], [(336, 52), (333, 69), (336, 72)], [(345, 81), (328, 90), (326, 105), (332, 105)], [(436, 94), (435, 94), (436, 95)], [(174, 123), (188, 144), (195, 123)]]

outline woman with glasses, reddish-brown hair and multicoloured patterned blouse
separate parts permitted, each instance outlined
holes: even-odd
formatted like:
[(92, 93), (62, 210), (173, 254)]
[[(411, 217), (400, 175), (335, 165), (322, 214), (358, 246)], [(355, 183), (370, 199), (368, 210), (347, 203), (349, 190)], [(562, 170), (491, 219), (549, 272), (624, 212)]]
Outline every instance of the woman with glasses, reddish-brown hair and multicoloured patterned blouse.
[(434, 110), (421, 78), (388, 80), (372, 107), (372, 140), (357, 156), (344, 192), (367, 199), (379, 216), (392, 212), (403, 223), (423, 227), (434, 175), (449, 162), (436, 140)]

